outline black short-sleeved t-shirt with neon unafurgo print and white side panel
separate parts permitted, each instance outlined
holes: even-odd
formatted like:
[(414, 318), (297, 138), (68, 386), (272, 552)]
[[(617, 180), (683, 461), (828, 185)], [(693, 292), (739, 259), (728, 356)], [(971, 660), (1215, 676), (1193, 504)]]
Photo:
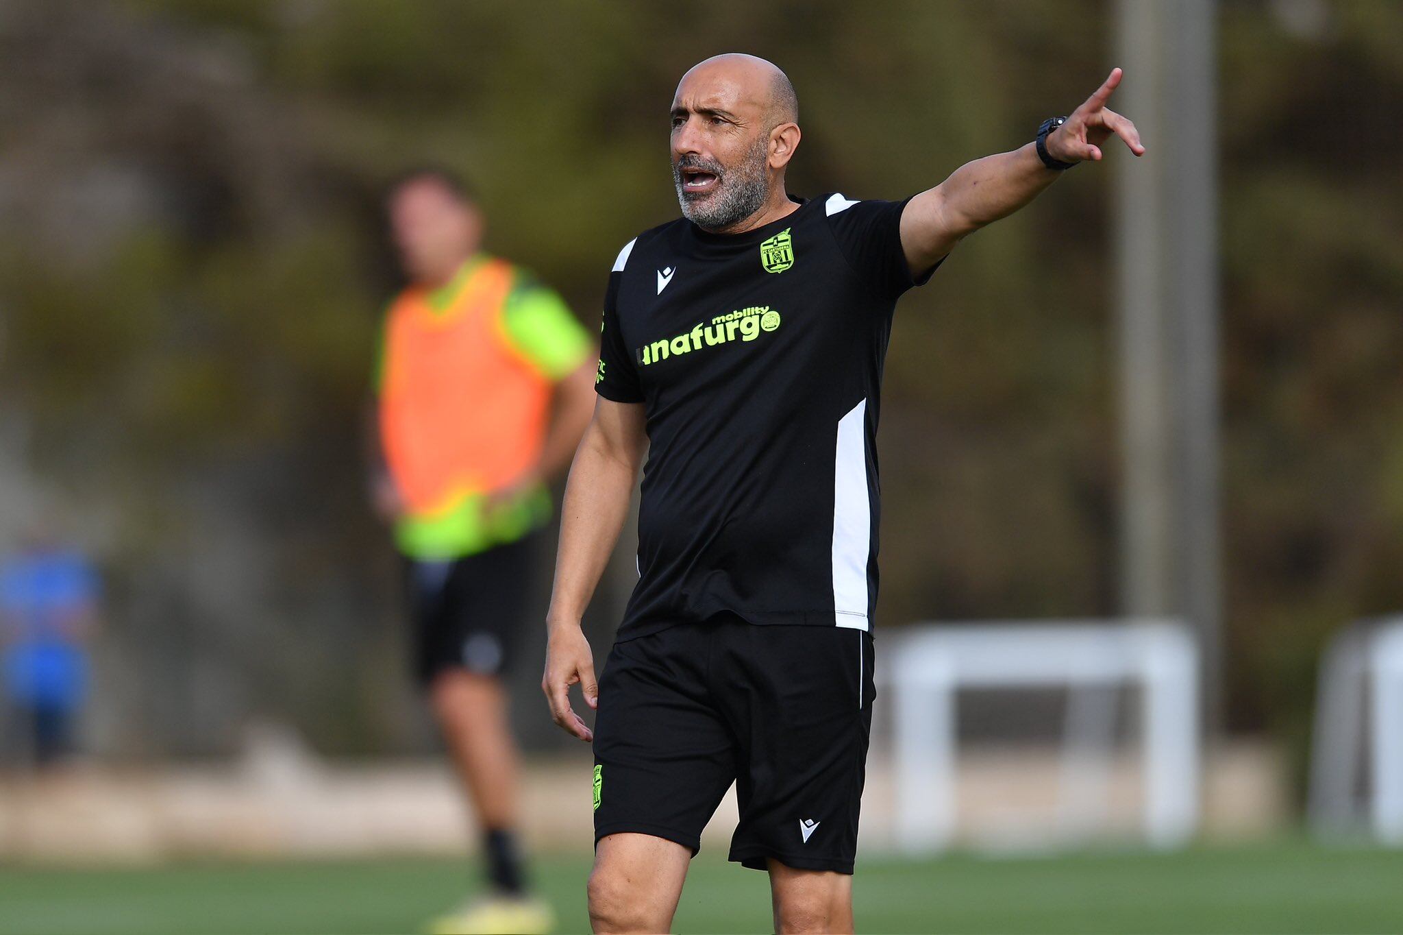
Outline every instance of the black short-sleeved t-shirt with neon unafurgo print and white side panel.
[(933, 272), (908, 268), (905, 206), (833, 194), (619, 253), (595, 389), (644, 403), (651, 442), (619, 639), (724, 612), (868, 629), (882, 359), (897, 299)]

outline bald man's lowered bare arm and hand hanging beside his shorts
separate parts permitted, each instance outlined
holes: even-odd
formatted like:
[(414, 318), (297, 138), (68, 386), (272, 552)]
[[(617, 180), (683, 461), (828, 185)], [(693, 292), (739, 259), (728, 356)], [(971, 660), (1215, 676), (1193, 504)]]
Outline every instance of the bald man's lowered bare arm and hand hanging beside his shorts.
[(556, 583), (546, 612), (549, 642), (540, 689), (550, 703), (551, 719), (584, 741), (593, 734), (570, 708), (570, 687), (579, 682), (591, 708), (599, 703), (599, 687), (579, 621), (629, 515), (647, 444), (643, 404), (600, 397), (565, 484)]

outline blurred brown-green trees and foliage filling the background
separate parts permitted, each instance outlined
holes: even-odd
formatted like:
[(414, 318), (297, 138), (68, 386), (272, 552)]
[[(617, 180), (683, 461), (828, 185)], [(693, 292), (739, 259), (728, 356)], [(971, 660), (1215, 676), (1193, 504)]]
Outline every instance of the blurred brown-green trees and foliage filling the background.
[[(1230, 722), (1291, 738), (1322, 640), (1403, 606), (1403, 7), (1235, 1), (1221, 29)], [(0, 428), (112, 570), (112, 745), (220, 751), (250, 715), (407, 743), (359, 456), (389, 175), (464, 170), (490, 247), (593, 321), (619, 246), (676, 213), (665, 114), (700, 58), (788, 70), (793, 191), (902, 197), (1075, 107), (1110, 42), (1110, 4), (1051, 0), (0, 7)], [(1111, 194), (1070, 173), (904, 300), (884, 623), (1117, 611)]]

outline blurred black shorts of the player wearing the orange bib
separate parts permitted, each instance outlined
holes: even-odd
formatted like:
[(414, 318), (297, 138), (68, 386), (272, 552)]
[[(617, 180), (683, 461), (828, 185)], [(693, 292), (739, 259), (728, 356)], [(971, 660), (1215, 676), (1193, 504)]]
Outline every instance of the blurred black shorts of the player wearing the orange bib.
[(405, 559), (414, 674), (425, 685), (460, 668), (498, 675), (512, 660), (535, 583), (540, 536), (449, 562)]

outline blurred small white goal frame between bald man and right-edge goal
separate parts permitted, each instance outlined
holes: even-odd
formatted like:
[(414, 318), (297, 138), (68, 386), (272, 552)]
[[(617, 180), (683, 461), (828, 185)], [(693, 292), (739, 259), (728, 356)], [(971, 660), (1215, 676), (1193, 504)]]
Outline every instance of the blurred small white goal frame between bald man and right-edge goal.
[[(897, 844), (909, 855), (955, 840), (957, 695), (968, 688), (1066, 688), (1063, 789), (1096, 789), (1094, 748), (1108, 748), (1107, 689), (1143, 691), (1143, 831), (1153, 847), (1184, 844), (1198, 827), (1198, 651), (1176, 621), (999, 621), (919, 623), (881, 637), (878, 678), (894, 698)], [(1108, 699), (1108, 701), (1106, 701)], [(1092, 752), (1092, 755), (1089, 755)], [(1107, 767), (1108, 769), (1108, 767)], [(1086, 796), (1083, 796), (1085, 803)], [(1089, 803), (1090, 809), (1099, 802)], [(1085, 809), (1083, 809), (1085, 811)]]

